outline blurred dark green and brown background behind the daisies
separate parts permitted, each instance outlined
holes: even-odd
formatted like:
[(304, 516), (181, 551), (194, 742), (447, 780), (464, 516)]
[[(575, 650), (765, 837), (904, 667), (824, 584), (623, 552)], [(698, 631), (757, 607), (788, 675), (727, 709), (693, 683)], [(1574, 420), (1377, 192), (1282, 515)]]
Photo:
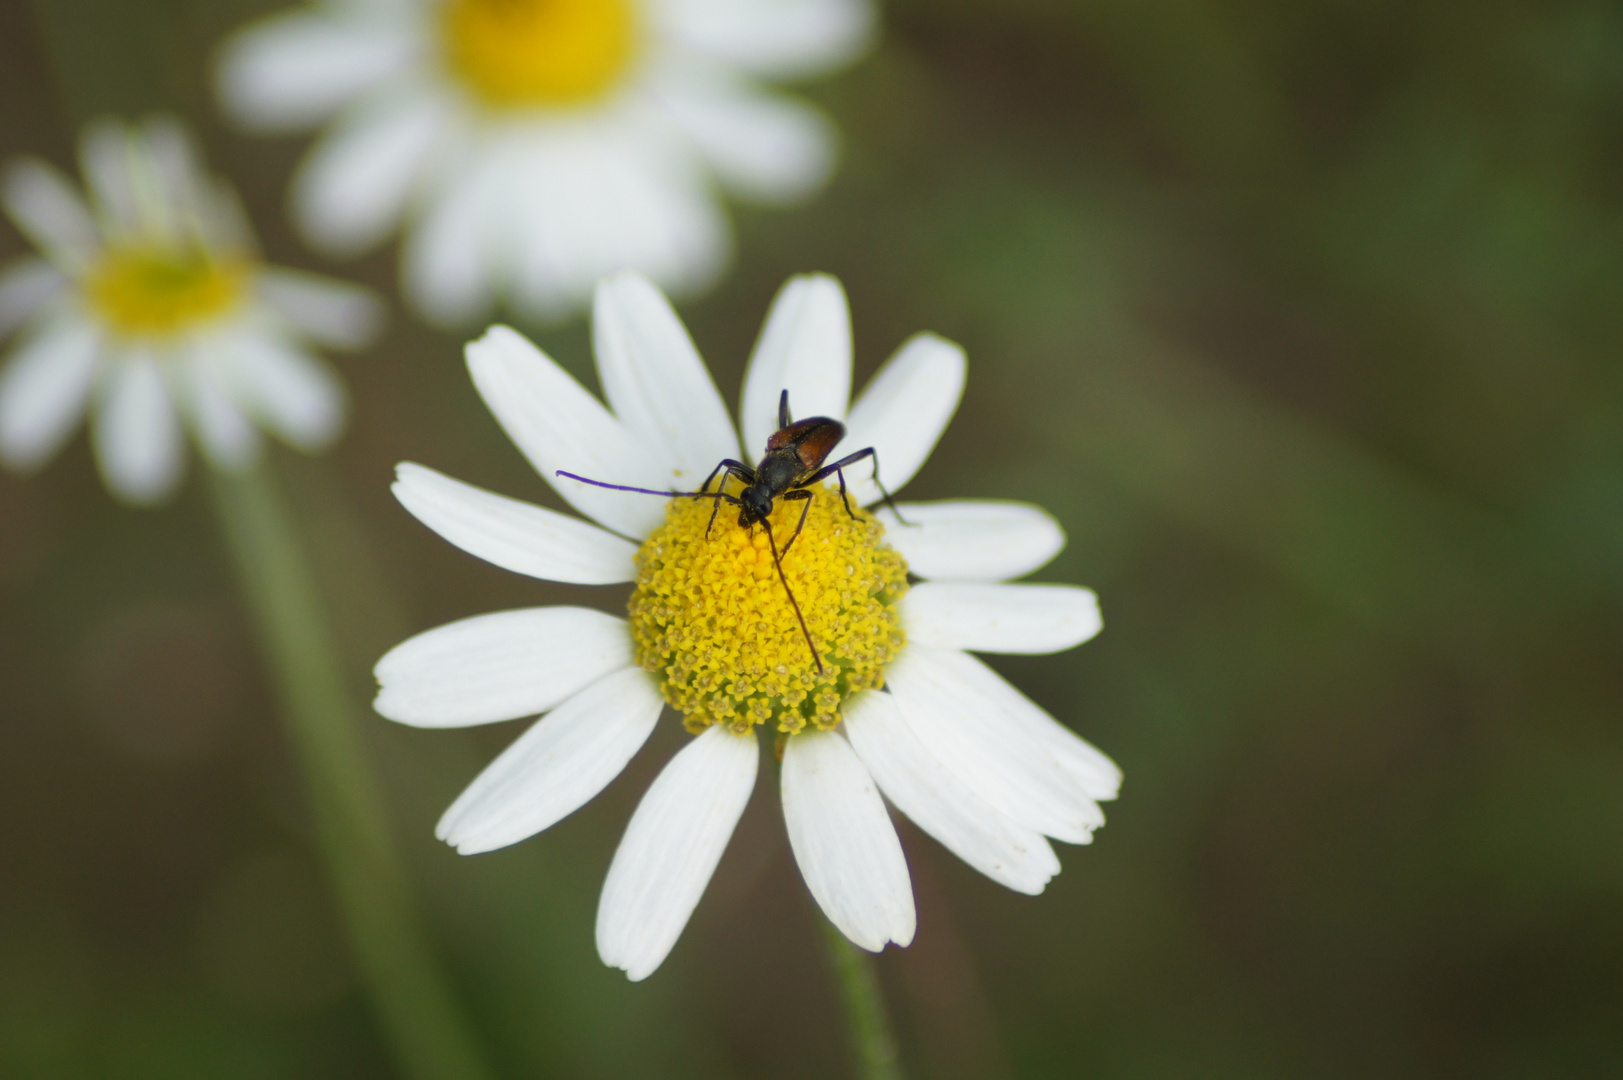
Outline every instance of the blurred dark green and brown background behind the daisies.
[[(261, 0), (0, 2), (0, 158), (169, 109), (268, 257), (300, 140), (222, 127)], [(1040, 898), (902, 827), (919, 937), (880, 960), (911, 1072), (1623, 1070), (1623, 8), (1597, 0), (906, 0), (805, 88), (846, 133), (799, 211), (735, 210), (683, 315), (724, 395), (784, 276), (839, 274), (859, 380), (971, 357), (907, 497), (1014, 497), (1105, 632), (998, 659), (1125, 768)], [(0, 258), (21, 237), (0, 224)], [(393, 296), (394, 255), (336, 268)], [(529, 326), (591, 377), (581, 323)], [(461, 338), (396, 310), (351, 432), (279, 455), (359, 693), (406, 635), (623, 590), (519, 578), (390, 497), (403, 458), (560, 505)], [(83, 437), (0, 476), (0, 1075), (390, 1077), (201, 486), (118, 508)], [(756, 791), (665, 966), (592, 947), (675, 724), (584, 810), (464, 859), (440, 810), (518, 731), (372, 749), (503, 1075), (839, 1077), (816, 916)]]

